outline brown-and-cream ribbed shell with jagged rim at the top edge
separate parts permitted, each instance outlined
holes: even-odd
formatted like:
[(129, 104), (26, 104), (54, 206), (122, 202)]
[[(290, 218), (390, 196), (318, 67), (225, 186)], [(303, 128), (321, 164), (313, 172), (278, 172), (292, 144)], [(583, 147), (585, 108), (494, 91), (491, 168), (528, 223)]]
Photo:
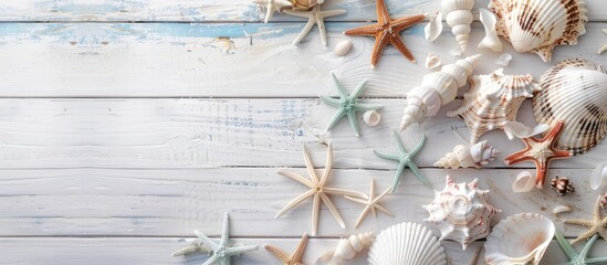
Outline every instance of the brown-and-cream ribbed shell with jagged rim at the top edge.
[(584, 0), (491, 0), (498, 34), (517, 52), (536, 53), (550, 62), (554, 46), (577, 44), (588, 21)]

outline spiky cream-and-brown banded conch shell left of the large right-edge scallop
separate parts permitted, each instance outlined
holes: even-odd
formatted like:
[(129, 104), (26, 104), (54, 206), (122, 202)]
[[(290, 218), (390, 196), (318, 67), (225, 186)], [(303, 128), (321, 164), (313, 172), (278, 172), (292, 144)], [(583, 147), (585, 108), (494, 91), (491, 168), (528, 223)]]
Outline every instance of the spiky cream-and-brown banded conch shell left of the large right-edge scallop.
[[(531, 75), (505, 75), (503, 70), (475, 75), (470, 78), (462, 106), (447, 116), (463, 119), (470, 129), (470, 142), (474, 144), (484, 132), (503, 129), (507, 121), (514, 121), (521, 104), (536, 91), (540, 85)], [(507, 131), (506, 135), (513, 137)]]

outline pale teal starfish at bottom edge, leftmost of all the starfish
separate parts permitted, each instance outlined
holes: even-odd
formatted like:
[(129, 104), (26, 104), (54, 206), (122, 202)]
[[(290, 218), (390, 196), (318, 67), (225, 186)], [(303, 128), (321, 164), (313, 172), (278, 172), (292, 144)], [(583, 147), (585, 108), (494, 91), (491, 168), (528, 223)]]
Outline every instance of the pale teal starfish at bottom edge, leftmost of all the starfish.
[[(211, 239), (209, 239), (207, 235), (198, 230), (195, 230), (193, 232), (198, 236), (199, 244), (211, 248), (211, 251), (213, 252), (213, 255), (209, 257), (209, 259), (207, 259), (207, 262), (205, 262), (202, 265), (230, 265), (231, 256), (258, 250), (257, 245), (228, 246), (228, 243), (230, 241), (230, 218), (228, 216), (228, 213), (223, 215), (223, 230), (221, 231), (221, 239), (219, 240), (219, 244), (214, 243)], [(179, 250), (175, 252), (174, 255), (178, 255), (176, 253), (182, 253), (182, 251)]]

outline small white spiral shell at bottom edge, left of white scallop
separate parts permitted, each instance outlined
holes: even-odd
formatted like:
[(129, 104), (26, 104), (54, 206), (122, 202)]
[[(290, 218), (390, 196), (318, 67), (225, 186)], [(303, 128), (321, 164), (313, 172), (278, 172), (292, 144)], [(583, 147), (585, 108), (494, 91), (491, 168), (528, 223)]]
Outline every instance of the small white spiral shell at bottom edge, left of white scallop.
[(374, 233), (360, 233), (356, 235), (350, 235), (347, 239), (342, 239), (337, 243), (337, 246), (326, 253), (324, 253), (316, 264), (323, 262), (329, 262), (329, 265), (341, 265), (345, 264), (346, 261), (354, 258), (354, 256), (369, 247), (375, 240)]

